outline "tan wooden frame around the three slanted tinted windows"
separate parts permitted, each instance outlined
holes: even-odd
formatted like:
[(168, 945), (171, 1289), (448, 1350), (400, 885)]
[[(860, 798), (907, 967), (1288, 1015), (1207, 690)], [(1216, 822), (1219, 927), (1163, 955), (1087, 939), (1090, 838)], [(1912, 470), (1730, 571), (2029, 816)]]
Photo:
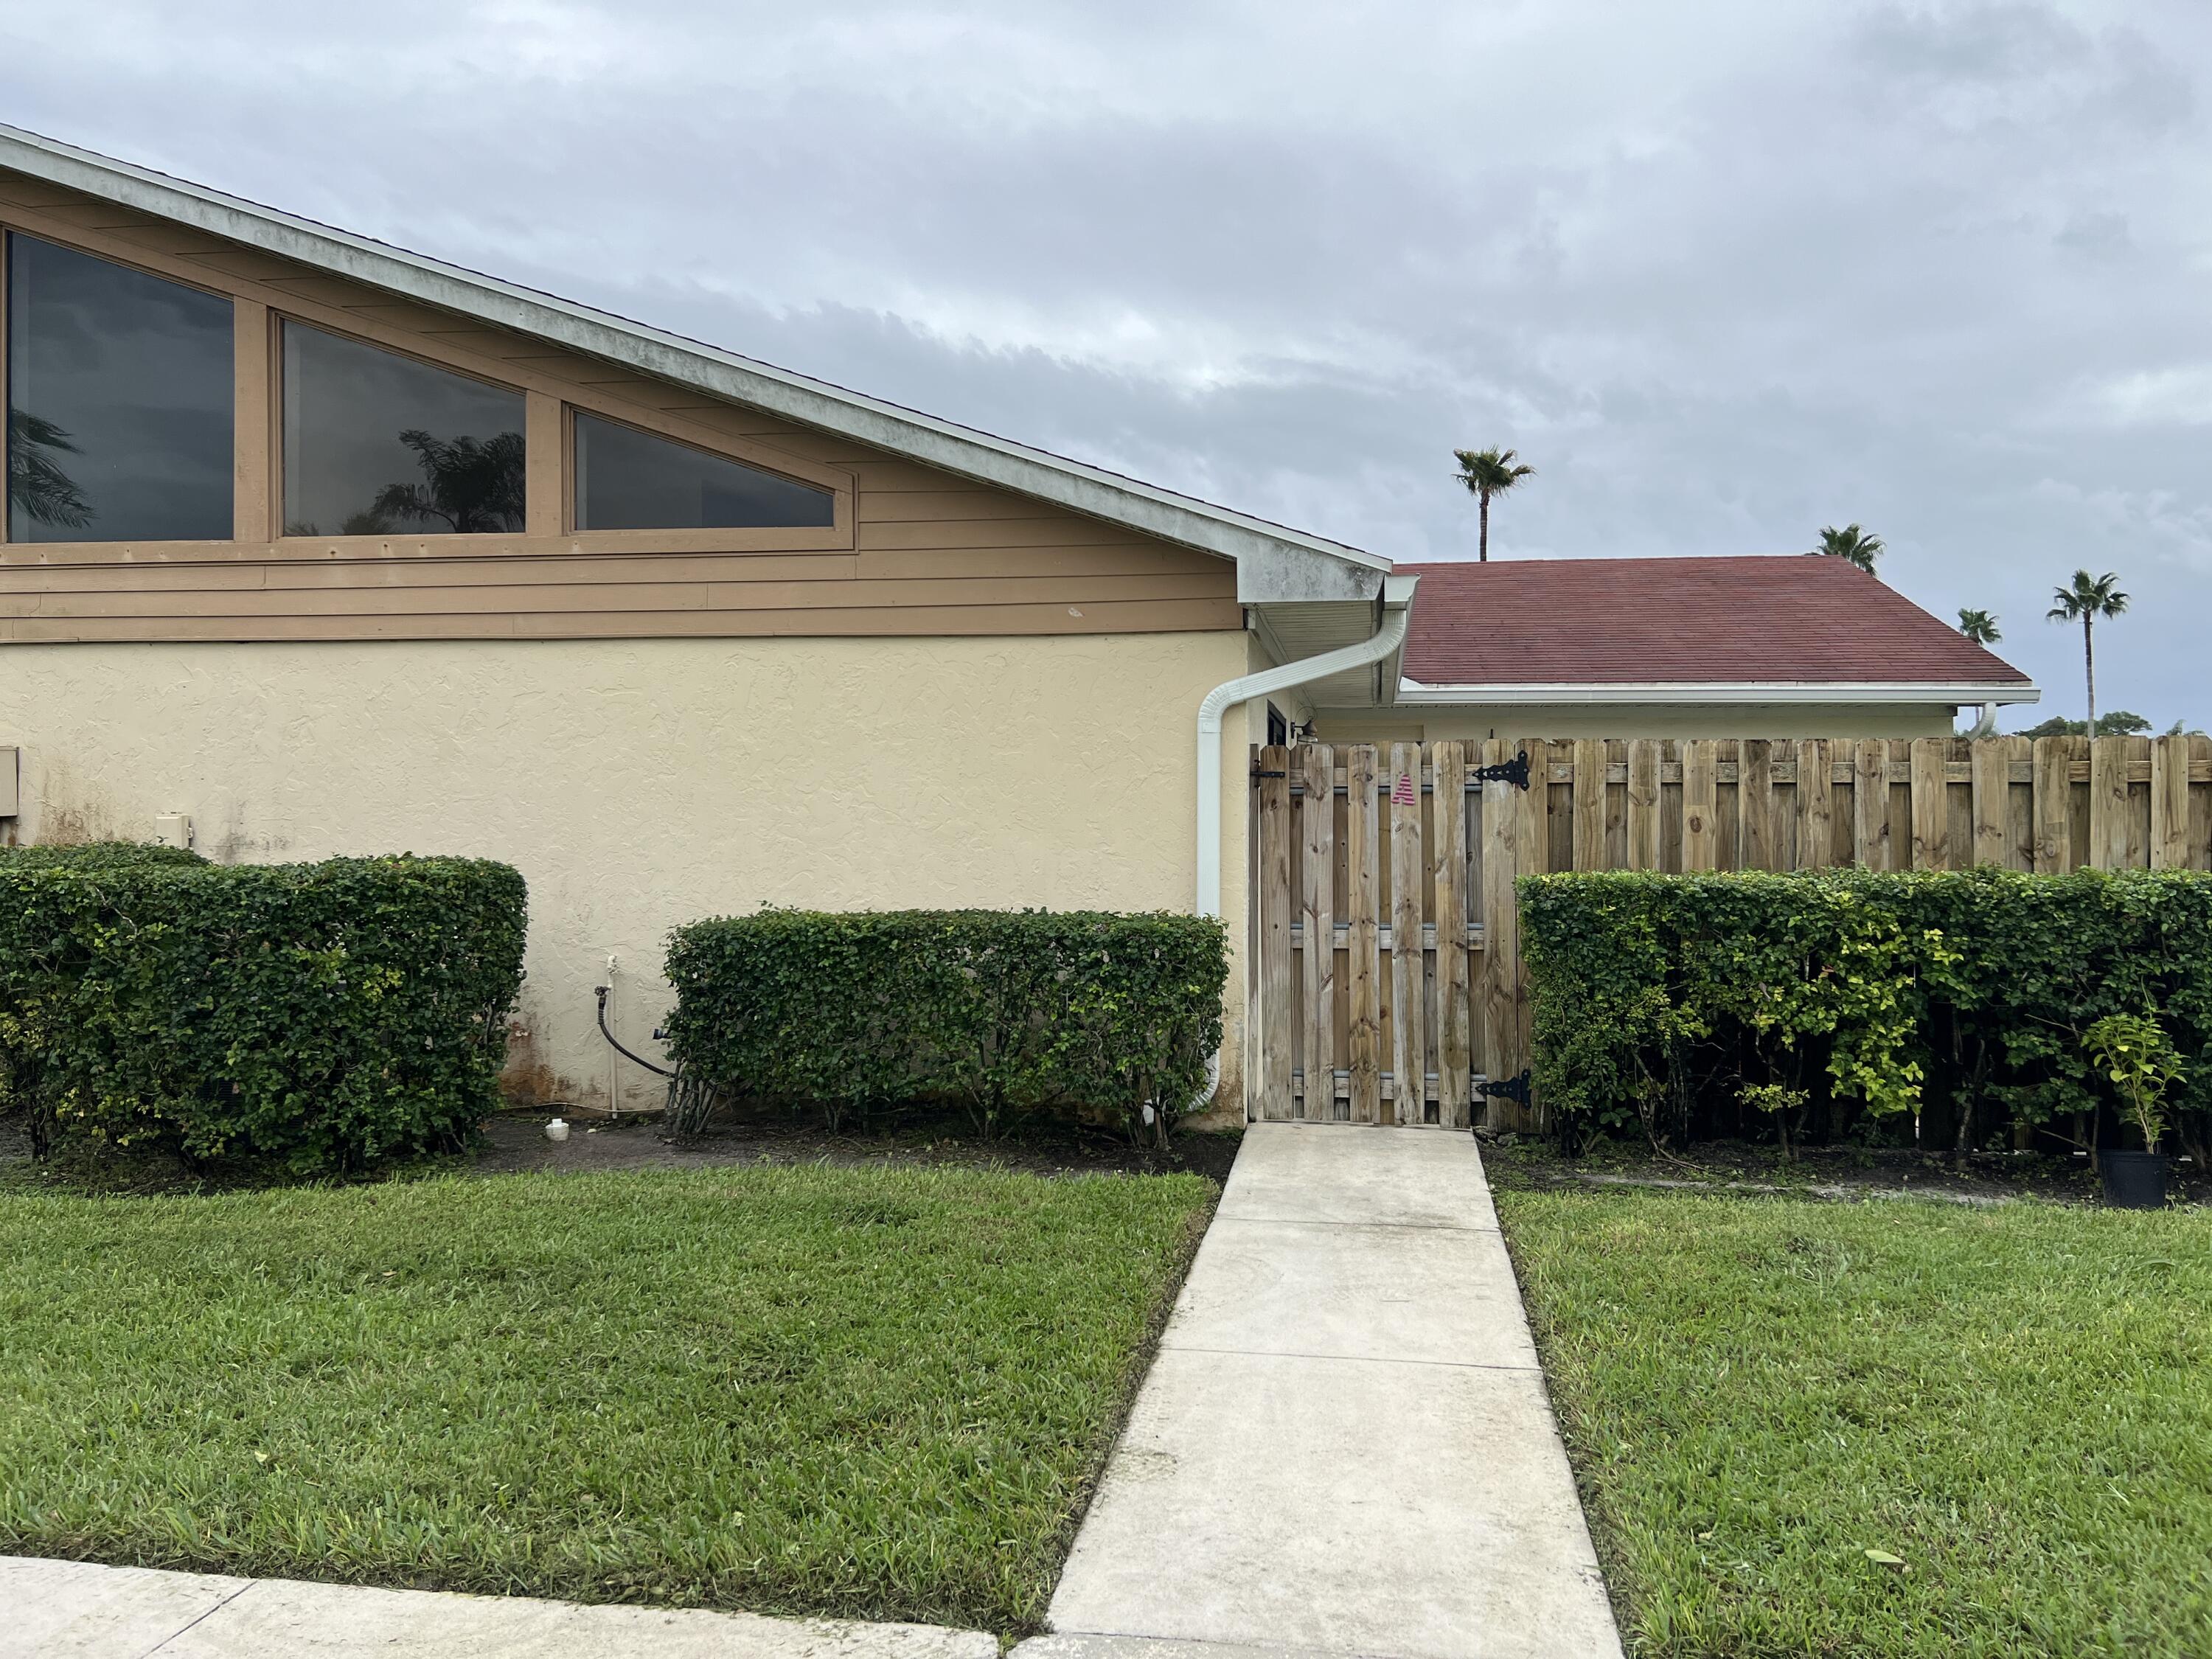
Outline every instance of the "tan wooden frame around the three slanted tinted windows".
[[(4, 564), (208, 564), (208, 562), (323, 562), (323, 560), (438, 560), (438, 557), (604, 557), (611, 553), (849, 553), (858, 546), (858, 478), (752, 438), (734, 438), (677, 414), (595, 394), (560, 374), (484, 358), (465, 347), (431, 356), (403, 330), (349, 316), (338, 305), (232, 276), (215, 288), (208, 272), (157, 250), (128, 243), (97, 228), (51, 215), (0, 206), (0, 239), (38, 237), (73, 252), (192, 288), (232, 305), (232, 538), (226, 542), (9, 542), (0, 513)], [(301, 268), (301, 276), (319, 276)], [(338, 279), (343, 281), (343, 279)], [(363, 292), (374, 292), (363, 288)], [(394, 301), (398, 303), (398, 301)], [(429, 310), (429, 307), (418, 307)], [(405, 533), (405, 535), (283, 535), (283, 354), (285, 321), (372, 345), (447, 374), (504, 392), (524, 405), (524, 529), (520, 533)], [(467, 327), (491, 327), (458, 319)], [(522, 336), (526, 338), (526, 336)], [(566, 347), (546, 343), (549, 352)], [(582, 356), (582, 354), (575, 354)], [(639, 376), (644, 378), (644, 376)], [(0, 398), (7, 387), (7, 281), (0, 270)], [(710, 394), (699, 394), (701, 400)], [(741, 407), (741, 405), (732, 405)], [(721, 456), (745, 467), (792, 478), (832, 495), (830, 526), (695, 529), (695, 531), (577, 531), (575, 529), (575, 420), (586, 414), (635, 427), (648, 436)]]

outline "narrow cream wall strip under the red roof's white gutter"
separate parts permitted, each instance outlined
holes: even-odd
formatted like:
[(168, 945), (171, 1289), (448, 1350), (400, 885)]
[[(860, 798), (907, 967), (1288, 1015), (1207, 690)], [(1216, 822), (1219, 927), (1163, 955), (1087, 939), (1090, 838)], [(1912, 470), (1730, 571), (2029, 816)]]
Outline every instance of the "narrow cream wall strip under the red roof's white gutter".
[(1323, 743), (1482, 737), (1951, 737), (1951, 703), (1515, 703), (1321, 710)]

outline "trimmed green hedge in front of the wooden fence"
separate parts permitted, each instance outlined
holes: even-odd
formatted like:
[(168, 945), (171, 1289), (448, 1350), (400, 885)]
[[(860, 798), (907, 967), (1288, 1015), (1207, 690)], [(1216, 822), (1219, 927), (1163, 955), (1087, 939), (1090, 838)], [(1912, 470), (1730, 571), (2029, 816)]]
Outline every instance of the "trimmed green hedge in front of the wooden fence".
[(2112, 1106), (2110, 1013), (2181, 1051), (2183, 1144), (2212, 1108), (2212, 876), (1973, 872), (1522, 876), (1535, 1086), (1553, 1119), (1655, 1139), (2000, 1130)]

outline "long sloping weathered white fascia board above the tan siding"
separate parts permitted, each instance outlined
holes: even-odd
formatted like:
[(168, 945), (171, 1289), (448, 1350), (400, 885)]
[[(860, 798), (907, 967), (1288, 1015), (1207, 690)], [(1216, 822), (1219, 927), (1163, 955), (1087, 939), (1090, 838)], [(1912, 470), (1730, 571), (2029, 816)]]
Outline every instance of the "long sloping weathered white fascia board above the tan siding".
[(1261, 588), (1252, 604), (1371, 597), (1380, 586), (1380, 573), (1391, 568), (1378, 553), (1177, 495), (1011, 438), (958, 427), (918, 409), (902, 409), (681, 334), (630, 323), (611, 312), (319, 226), (312, 219), (296, 219), (38, 133), (0, 126), (0, 166), (349, 276), (387, 294), (765, 409), (982, 484), (1011, 489), (1201, 553), (1219, 553), (1237, 560), (1239, 597), (1245, 588), (1245, 566), (1252, 566), (1252, 584)]

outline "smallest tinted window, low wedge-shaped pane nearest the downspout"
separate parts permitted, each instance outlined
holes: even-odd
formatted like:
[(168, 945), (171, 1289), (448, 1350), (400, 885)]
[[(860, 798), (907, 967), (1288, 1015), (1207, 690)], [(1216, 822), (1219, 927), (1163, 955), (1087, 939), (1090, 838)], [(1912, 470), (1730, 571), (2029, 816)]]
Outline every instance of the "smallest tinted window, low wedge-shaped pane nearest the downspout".
[(787, 529), (832, 524), (836, 495), (690, 445), (577, 414), (580, 531)]

